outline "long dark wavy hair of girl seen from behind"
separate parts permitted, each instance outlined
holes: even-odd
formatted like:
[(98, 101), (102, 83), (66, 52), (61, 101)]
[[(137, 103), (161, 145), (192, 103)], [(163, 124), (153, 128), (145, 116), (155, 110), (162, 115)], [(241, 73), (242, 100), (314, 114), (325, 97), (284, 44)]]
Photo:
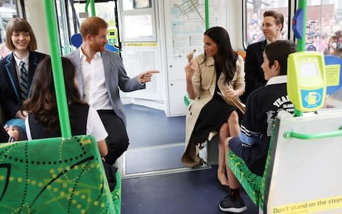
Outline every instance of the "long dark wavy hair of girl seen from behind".
[[(62, 57), (62, 66), (68, 105), (72, 103), (83, 103), (78, 88), (75, 85), (75, 66), (70, 59), (65, 57)], [(59, 133), (61, 131), (51, 58), (49, 56), (38, 64), (33, 80), (31, 96), (24, 101), (21, 109), (28, 111), (28, 113), (33, 113), (36, 121), (46, 127), (46, 131), (49, 133)], [(72, 125), (73, 120), (71, 118)]]

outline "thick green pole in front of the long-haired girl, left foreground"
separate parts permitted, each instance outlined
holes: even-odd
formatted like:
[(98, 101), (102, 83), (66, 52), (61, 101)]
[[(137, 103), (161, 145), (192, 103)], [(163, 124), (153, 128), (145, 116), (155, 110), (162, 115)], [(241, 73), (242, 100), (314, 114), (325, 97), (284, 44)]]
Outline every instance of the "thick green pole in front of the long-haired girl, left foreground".
[(57, 31), (56, 9), (53, 0), (45, 0), (46, 26), (48, 26), (48, 39), (51, 49), (51, 63), (53, 71), (53, 83), (55, 83), (58, 117), (61, 124), (63, 138), (71, 137), (71, 127), (66, 101), (66, 89), (63, 78), (61, 61), (61, 47), (59, 46), (59, 34)]

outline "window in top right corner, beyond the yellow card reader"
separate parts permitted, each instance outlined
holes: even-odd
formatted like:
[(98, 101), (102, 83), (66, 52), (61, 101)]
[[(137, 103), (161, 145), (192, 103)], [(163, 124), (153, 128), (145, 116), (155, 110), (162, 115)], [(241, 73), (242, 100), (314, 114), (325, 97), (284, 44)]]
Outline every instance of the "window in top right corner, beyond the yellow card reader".
[(306, 49), (329, 54), (328, 41), (342, 30), (341, 0), (307, 1), (306, 11)]

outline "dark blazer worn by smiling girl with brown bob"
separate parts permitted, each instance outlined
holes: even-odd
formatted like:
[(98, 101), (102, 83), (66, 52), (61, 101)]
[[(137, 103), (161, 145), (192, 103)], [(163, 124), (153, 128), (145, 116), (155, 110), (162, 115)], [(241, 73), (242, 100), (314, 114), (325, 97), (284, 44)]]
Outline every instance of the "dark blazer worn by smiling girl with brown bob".
[[(28, 56), (28, 96), (31, 95), (32, 82), (38, 63), (47, 55), (36, 51), (30, 51)], [(19, 79), (16, 74), (16, 60), (14, 59), (14, 52), (5, 56), (0, 61), (0, 81), (1, 91), (4, 96), (1, 99), (1, 106), (4, 107), (6, 120), (16, 117), (16, 112), (21, 109), (21, 89), (19, 86)]]

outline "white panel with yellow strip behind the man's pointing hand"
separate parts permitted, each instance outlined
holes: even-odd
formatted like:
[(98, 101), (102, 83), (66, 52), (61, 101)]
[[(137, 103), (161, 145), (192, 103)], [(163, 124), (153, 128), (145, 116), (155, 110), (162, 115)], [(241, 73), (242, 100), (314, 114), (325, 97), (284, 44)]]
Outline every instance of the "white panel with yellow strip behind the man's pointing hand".
[[(159, 28), (157, 1), (121, 0), (120, 3), (118, 11), (121, 17), (122, 56), (128, 75), (133, 77), (142, 71), (160, 71), (152, 76), (152, 81), (146, 84), (145, 90), (125, 93), (125, 96), (150, 101), (152, 107), (156, 107), (153, 102), (165, 101), (160, 32), (156, 30)], [(139, 100), (133, 99), (133, 103), (139, 103)]]

